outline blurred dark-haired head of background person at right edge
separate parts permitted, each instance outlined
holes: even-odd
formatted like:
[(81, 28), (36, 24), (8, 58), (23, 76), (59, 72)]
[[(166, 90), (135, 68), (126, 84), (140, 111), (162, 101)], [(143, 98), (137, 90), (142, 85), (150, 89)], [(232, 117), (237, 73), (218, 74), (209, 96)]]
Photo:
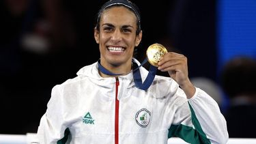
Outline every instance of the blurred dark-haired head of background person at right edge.
[(223, 91), (230, 98), (256, 94), (256, 61), (253, 58), (240, 56), (227, 61), (221, 71)]

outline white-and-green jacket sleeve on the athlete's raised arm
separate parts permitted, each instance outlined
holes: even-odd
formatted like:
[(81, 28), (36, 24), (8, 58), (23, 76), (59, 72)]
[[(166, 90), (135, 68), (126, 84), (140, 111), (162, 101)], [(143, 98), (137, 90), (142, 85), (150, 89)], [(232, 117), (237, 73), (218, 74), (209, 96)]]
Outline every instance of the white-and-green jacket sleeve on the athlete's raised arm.
[[(184, 95), (181, 89), (178, 91)], [(188, 143), (227, 143), (226, 120), (216, 101), (205, 91), (196, 88), (193, 98), (182, 104), (176, 115), (169, 138), (177, 136)]]

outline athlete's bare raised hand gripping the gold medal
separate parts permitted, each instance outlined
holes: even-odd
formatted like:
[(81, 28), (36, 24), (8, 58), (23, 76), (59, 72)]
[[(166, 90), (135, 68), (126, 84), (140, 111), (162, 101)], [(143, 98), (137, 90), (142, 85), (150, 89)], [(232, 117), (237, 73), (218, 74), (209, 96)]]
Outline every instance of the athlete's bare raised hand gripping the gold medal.
[(195, 87), (188, 78), (188, 63), (184, 55), (173, 52), (165, 53), (158, 62), (158, 66), (158, 70), (168, 72), (169, 76), (180, 85), (187, 98), (192, 98)]

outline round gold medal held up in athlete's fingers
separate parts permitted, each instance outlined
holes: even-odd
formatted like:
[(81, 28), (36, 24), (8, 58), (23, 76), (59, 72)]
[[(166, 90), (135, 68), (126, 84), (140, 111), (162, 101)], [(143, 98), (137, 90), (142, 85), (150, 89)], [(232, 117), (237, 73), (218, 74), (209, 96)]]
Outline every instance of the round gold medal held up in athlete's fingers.
[(158, 62), (160, 61), (160, 58), (167, 53), (167, 48), (165, 46), (162, 46), (162, 44), (152, 44), (147, 48), (147, 60), (152, 64), (153, 66), (158, 67)]

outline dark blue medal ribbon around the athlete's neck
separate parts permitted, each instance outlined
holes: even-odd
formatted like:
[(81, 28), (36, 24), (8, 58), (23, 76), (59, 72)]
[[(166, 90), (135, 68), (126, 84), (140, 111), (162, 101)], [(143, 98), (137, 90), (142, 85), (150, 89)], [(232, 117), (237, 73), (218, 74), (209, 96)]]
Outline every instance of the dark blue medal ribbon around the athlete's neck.
[[(133, 63), (133, 79), (134, 79), (134, 83), (135, 86), (139, 89), (143, 89), (143, 90), (147, 90), (150, 85), (152, 84), (152, 82), (154, 81), (154, 78), (156, 76), (156, 70), (157, 67), (152, 66), (150, 64), (150, 70), (147, 74), (147, 77), (145, 78), (145, 81), (142, 83), (142, 79), (141, 79), (141, 72), (139, 71), (139, 68), (141, 66), (143, 66), (145, 63), (147, 62), (147, 58), (145, 58), (143, 60), (143, 62), (141, 63), (140, 66), (138, 66), (138, 64), (136, 62), (134, 62), (134, 60), (132, 60)], [(106, 68), (104, 68), (101, 64), (100, 64), (100, 59), (98, 60), (98, 69), (100, 70), (100, 72), (102, 72), (103, 74), (109, 75), (109, 76), (116, 76), (116, 75), (122, 75), (122, 74), (115, 74), (113, 72), (110, 72), (109, 70), (106, 70)]]

